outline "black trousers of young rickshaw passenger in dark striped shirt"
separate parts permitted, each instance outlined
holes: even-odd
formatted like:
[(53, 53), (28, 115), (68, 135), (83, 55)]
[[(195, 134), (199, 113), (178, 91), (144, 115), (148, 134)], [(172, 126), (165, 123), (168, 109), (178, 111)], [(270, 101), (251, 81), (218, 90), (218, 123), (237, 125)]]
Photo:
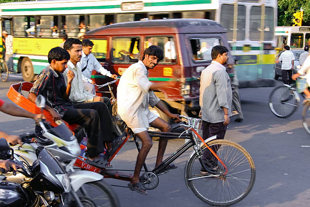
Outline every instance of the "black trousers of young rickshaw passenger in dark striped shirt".
[(88, 136), (88, 143), (96, 148), (88, 148), (90, 157), (103, 152), (105, 142), (111, 142), (117, 135), (109, 110), (103, 102), (75, 103), (62, 117), (69, 124), (83, 126)]

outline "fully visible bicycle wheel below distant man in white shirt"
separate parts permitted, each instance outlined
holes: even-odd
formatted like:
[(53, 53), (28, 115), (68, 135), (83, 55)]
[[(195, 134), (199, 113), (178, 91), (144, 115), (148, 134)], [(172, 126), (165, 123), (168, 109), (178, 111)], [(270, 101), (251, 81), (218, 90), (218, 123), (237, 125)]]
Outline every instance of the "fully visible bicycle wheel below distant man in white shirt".
[(299, 94), (287, 86), (275, 88), (269, 95), (269, 109), (280, 118), (291, 116), (297, 109)]

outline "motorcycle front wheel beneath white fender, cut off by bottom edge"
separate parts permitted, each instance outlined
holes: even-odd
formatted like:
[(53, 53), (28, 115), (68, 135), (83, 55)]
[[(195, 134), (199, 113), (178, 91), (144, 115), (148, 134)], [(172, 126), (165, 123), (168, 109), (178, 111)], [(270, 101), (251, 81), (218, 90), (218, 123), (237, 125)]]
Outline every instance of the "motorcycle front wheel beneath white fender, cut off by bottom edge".
[[(86, 193), (81, 188), (76, 191), (83, 206), (89, 207), (120, 207), (117, 194), (103, 180), (94, 181), (83, 184)], [(95, 188), (94, 188), (95, 187)], [(71, 194), (65, 197), (65, 206), (75, 206), (74, 199)]]

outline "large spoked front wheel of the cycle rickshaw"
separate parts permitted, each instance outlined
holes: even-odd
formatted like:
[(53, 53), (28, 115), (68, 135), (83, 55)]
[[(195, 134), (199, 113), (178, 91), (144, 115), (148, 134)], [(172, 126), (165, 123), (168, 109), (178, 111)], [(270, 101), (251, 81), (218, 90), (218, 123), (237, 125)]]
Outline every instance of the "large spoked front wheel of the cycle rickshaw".
[[(208, 145), (217, 149), (217, 156), (226, 165), (227, 174), (204, 178), (207, 174), (200, 172), (201, 163), (198, 155), (193, 153), (186, 165), (185, 182), (199, 199), (210, 205), (227, 206), (241, 201), (249, 194), (255, 183), (256, 169), (253, 159), (243, 147), (231, 141), (214, 140)], [(208, 149), (202, 147), (202, 150), (205, 152)], [(224, 169), (219, 162), (218, 166)]]

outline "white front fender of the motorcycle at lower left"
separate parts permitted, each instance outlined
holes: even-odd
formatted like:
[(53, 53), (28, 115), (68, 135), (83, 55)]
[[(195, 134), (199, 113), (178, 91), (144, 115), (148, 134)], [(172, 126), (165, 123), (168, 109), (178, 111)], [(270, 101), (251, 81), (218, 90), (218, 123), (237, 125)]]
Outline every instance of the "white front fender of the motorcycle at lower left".
[(69, 175), (71, 188), (74, 192), (78, 191), (81, 186), (85, 183), (99, 181), (103, 179), (103, 176), (98, 174), (97, 172), (81, 170), (81, 171), (74, 171)]

